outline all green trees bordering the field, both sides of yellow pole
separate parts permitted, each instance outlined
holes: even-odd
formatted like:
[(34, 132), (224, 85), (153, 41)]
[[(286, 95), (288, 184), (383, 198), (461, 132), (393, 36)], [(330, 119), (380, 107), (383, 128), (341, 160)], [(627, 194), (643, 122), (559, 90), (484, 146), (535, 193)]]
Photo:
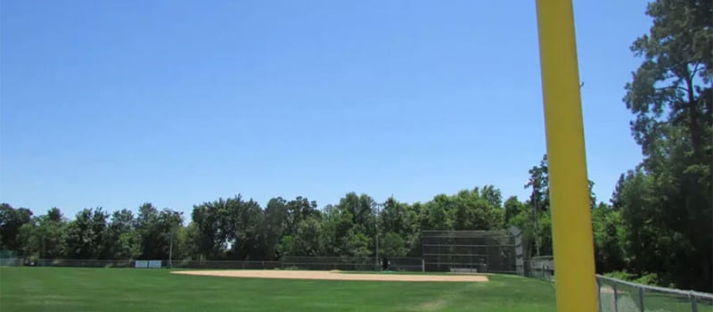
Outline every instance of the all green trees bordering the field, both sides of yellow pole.
[[(619, 177), (610, 202), (591, 194), (597, 272), (712, 291), (713, 2), (658, 0), (646, 13), (652, 28), (631, 45), (643, 62), (623, 98), (643, 160)], [(529, 256), (549, 255), (546, 155), (529, 174), (524, 201), (502, 201), (493, 185), (415, 203), (347, 193), (321, 209), (306, 197), (261, 207), (237, 195), (193, 206), (185, 224), (188, 216), (151, 203), (71, 220), (4, 203), (0, 248), (47, 259), (168, 259), (171, 242), (174, 259), (373, 256), (378, 236), (379, 253), (397, 257), (420, 256), (423, 230), (517, 226)]]

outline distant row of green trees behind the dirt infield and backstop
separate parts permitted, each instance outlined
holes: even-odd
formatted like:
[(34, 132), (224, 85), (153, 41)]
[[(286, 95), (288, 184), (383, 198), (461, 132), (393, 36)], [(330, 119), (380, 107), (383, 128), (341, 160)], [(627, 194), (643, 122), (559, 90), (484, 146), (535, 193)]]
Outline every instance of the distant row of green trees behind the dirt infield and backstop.
[[(525, 213), (525, 204), (511, 209)], [(376, 211), (379, 209), (379, 213)], [(347, 193), (339, 203), (318, 209), (316, 201), (275, 197), (263, 208), (241, 195), (193, 206), (182, 212), (144, 203), (137, 212), (82, 209), (73, 219), (49, 209), (0, 204), (0, 244), (22, 257), (39, 259), (273, 260), (285, 256), (420, 257), (422, 229), (482, 230), (506, 226), (501, 193), (492, 185), (439, 194), (408, 204), (367, 194)], [(172, 245), (172, 246), (171, 246)]]

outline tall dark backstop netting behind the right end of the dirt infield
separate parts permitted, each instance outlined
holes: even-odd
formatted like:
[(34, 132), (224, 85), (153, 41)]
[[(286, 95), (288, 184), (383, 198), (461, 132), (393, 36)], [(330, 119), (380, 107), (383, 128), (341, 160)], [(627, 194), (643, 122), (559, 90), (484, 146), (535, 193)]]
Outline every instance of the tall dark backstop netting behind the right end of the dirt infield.
[(423, 231), (426, 271), (519, 273), (519, 234), (511, 231)]

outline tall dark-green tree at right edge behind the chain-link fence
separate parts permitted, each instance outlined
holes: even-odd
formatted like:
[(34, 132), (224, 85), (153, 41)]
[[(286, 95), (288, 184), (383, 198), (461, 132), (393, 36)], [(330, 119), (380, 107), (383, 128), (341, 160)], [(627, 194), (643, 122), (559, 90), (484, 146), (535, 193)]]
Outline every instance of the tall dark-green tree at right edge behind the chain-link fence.
[[(642, 233), (647, 241), (641, 243), (651, 248), (632, 250), (638, 269), (669, 275), (680, 287), (711, 290), (713, 4), (658, 0), (646, 13), (653, 25), (631, 46), (643, 63), (624, 97), (635, 115), (631, 128), (643, 167), (627, 175), (631, 191), (618, 204), (629, 230)], [(636, 227), (642, 224), (655, 227)], [(658, 234), (655, 242), (648, 231)]]

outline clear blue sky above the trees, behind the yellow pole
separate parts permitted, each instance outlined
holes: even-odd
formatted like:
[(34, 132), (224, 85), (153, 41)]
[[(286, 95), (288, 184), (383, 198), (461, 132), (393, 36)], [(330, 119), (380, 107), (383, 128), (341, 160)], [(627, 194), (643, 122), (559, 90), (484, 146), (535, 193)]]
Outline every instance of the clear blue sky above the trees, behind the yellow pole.
[[(488, 5), (484, 5), (488, 4)], [(643, 1), (575, 1), (590, 178), (641, 160), (621, 98)], [(528, 191), (535, 1), (4, 0), (0, 201), (71, 217), (347, 192)]]

